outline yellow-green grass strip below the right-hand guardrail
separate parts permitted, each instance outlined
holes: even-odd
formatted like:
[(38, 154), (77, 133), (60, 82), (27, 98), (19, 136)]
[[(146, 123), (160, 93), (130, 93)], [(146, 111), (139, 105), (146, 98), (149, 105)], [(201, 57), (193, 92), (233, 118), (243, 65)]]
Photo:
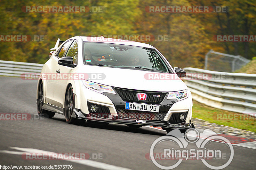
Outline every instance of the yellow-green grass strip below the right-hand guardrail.
[(256, 132), (256, 118), (252, 115), (221, 110), (193, 101), (192, 117), (224, 126)]

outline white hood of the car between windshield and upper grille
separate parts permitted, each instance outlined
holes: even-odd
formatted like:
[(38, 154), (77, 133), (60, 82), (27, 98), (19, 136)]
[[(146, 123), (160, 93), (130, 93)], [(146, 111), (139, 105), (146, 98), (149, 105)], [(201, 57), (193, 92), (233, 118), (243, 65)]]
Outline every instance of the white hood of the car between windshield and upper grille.
[[(87, 73), (89, 78), (86, 79), (89, 81), (113, 87), (157, 92), (188, 89), (177, 74), (91, 65), (84, 65), (78, 70), (80, 73)], [(92, 73), (101, 75), (102, 78), (91, 77)]]

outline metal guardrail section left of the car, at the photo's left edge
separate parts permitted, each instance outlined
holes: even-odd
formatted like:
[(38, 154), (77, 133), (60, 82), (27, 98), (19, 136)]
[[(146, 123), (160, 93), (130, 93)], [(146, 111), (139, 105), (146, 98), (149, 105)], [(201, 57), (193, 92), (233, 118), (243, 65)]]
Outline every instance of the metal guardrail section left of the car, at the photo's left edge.
[(40, 73), (43, 64), (0, 60), (0, 75), (22, 77), (24, 73)]

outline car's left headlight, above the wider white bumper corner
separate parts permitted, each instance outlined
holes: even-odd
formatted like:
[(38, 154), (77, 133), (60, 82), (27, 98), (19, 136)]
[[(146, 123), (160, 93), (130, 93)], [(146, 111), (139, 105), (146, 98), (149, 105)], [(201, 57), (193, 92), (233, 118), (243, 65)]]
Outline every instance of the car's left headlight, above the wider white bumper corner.
[(116, 94), (115, 91), (112, 89), (112, 87), (108, 85), (101, 85), (101, 84), (94, 83), (87, 80), (82, 80), (82, 81), (85, 87), (95, 92), (99, 92), (99, 93), (108, 92), (108, 93)]

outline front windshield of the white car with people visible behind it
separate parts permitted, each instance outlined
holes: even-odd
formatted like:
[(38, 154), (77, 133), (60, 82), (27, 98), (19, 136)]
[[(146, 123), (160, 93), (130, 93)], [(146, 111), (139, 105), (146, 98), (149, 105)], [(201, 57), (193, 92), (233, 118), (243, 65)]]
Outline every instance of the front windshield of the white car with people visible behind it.
[(170, 72), (155, 49), (121, 44), (84, 42), (84, 62), (100, 66)]

